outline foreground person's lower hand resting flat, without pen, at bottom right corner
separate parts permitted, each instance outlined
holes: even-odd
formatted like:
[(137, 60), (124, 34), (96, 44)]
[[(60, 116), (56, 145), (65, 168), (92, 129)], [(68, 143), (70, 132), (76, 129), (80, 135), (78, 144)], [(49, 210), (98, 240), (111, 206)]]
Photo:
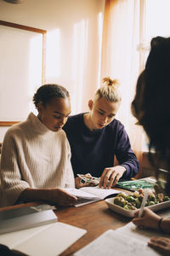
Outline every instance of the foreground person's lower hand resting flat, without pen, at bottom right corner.
[(148, 242), (149, 247), (156, 249), (156, 251), (163, 255), (170, 255), (170, 238), (166, 237), (151, 237)]

